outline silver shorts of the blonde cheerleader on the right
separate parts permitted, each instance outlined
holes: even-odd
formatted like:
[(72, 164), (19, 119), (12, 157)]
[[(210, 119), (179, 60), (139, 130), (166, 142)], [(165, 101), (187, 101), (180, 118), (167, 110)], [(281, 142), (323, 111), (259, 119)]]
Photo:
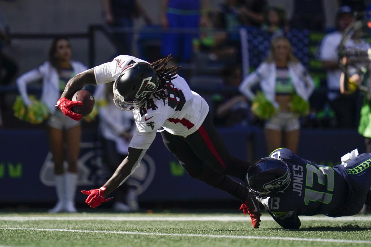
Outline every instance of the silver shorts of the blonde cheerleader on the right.
[(265, 122), (265, 128), (290, 132), (300, 129), (299, 118), (292, 112), (279, 111)]

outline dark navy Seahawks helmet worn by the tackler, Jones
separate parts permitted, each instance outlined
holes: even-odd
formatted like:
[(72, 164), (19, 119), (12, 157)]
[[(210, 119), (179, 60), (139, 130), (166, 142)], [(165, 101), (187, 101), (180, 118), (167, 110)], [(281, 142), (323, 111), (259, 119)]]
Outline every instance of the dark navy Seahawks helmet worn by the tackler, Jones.
[(250, 166), (246, 174), (246, 187), (260, 198), (283, 192), (290, 181), (288, 165), (278, 158), (262, 158)]

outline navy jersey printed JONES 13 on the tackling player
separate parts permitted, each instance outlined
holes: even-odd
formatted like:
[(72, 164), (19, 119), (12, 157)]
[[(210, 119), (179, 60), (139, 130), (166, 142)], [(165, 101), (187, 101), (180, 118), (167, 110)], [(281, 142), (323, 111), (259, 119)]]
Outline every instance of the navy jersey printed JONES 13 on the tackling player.
[(295, 155), (287, 148), (270, 154), (288, 164), (291, 182), (283, 193), (259, 201), (285, 228), (300, 227), (300, 215), (335, 214), (348, 194), (347, 183), (338, 168), (320, 166)]

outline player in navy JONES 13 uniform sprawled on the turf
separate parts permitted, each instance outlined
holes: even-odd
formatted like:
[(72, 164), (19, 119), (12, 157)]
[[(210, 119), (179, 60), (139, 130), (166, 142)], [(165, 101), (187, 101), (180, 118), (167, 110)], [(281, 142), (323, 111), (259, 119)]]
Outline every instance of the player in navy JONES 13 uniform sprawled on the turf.
[(351, 216), (371, 204), (371, 154), (358, 150), (326, 167), (279, 148), (246, 174), (246, 186), (283, 228), (301, 226), (300, 215)]

